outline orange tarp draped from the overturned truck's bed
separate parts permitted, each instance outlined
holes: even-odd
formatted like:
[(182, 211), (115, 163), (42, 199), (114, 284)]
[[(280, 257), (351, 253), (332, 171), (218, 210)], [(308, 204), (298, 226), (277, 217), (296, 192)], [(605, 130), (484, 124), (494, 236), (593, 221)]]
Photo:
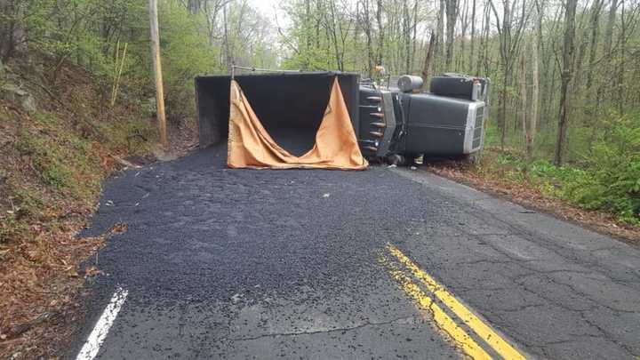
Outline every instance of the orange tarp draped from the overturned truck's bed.
[(231, 81), (230, 99), (227, 164), (231, 168), (364, 170), (368, 166), (358, 148), (338, 78), (333, 81), (316, 144), (303, 156), (293, 156), (276, 144), (235, 80)]

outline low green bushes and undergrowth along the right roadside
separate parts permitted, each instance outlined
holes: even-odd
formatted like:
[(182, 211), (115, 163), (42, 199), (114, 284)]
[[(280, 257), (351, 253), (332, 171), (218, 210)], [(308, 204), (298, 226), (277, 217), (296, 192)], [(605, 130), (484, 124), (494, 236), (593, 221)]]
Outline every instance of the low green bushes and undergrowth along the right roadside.
[(614, 116), (604, 126), (580, 166), (558, 167), (548, 160), (529, 163), (512, 154), (496, 156), (491, 166), (548, 196), (640, 224), (640, 113)]

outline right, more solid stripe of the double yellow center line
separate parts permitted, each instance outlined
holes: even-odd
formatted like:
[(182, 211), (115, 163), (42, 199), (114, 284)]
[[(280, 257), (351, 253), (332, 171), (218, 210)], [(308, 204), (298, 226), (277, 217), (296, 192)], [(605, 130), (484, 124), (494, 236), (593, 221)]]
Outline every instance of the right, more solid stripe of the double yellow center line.
[(418, 268), (412, 260), (407, 258), (404, 253), (400, 252), (393, 244), (387, 243), (388, 251), (391, 252), (397, 260), (404, 264), (406, 268), (411, 270), (413, 276), (416, 276), (422, 284), (427, 286), (429, 292), (433, 292), (436, 297), (444, 303), (445, 306), (450, 308), (452, 312), (459, 316), (460, 319), (468, 325), (471, 330), (476, 332), (478, 336), (484, 339), (500, 356), (505, 359), (526, 359), (525, 356), (520, 354), (516, 348), (512, 347), (506, 340), (502, 339), (500, 335), (493, 331), (493, 329), (484, 324), (480, 318), (472, 313), (467, 307), (460, 303), (460, 300), (456, 299), (451, 292), (447, 292), (444, 286), (436, 282), (436, 280), (425, 273), (421, 268)]

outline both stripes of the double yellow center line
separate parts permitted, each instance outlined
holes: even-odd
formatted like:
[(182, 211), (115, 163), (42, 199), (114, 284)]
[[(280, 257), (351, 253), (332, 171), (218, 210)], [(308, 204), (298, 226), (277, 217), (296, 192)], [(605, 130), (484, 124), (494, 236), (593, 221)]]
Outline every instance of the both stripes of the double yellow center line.
[[(502, 358), (509, 360), (526, 358), (506, 340), (502, 339), (497, 332), (493, 331), (489, 325), (484, 324), (480, 318), (462, 305), (460, 300), (456, 299), (451, 292), (446, 291), (443, 285), (438, 284), (433, 277), (416, 266), (413, 261), (407, 258), (404, 253), (400, 252), (396, 246), (388, 243), (387, 250), (393, 258), (396, 258), (400, 265), (402, 265), (404, 270), (406, 270), (406, 272), (402, 271), (402, 269), (396, 266), (395, 261), (390, 261), (387, 256), (380, 255), (380, 261), (388, 268), (389, 274), (400, 284), (404, 292), (417, 302), (420, 308), (431, 312), (436, 326), (448, 334), (467, 356), (474, 359), (492, 358), (474, 338), (469, 336), (468, 332), (459, 324), (460, 321), (472, 332), (475, 332), (479, 339), (483, 340), (484, 343), (490, 346)], [(407, 273), (410, 275), (407, 275)], [(433, 300), (427, 292), (423, 291), (418, 284), (415, 284), (412, 281), (412, 276), (420, 280), (420, 284), (435, 296), (439, 302)], [(460, 321), (456, 322), (452, 316), (447, 314), (443, 307), (445, 309), (448, 308)]]

